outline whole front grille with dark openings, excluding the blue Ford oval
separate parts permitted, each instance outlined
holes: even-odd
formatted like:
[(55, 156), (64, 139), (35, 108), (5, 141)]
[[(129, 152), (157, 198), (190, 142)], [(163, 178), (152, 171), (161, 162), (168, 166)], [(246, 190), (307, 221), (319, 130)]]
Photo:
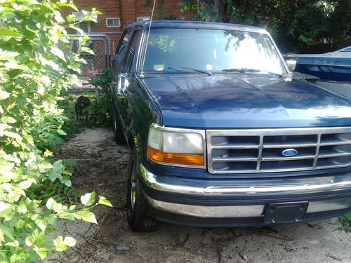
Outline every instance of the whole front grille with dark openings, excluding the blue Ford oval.
[[(351, 165), (351, 127), (206, 130), (210, 173), (265, 173)], [(282, 151), (296, 149), (295, 156)]]

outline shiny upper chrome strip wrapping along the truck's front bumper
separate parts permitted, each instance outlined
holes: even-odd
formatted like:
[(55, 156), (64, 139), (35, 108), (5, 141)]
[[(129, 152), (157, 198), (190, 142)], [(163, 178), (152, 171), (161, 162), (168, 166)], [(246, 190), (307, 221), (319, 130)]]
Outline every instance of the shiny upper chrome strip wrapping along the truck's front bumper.
[[(297, 185), (267, 185), (260, 187), (234, 187), (234, 186), (221, 186), (213, 187), (211, 185), (207, 187), (190, 187), (187, 185), (180, 184), (167, 184), (164, 182), (159, 182), (157, 176), (151, 173), (149, 170), (140, 163), (139, 166), (140, 174), (147, 186), (152, 189), (157, 189), (159, 191), (169, 191), (173, 193), (182, 194), (306, 194), (312, 193), (314, 191), (336, 191), (351, 189), (351, 180), (344, 182), (329, 182), (324, 184), (297, 184)], [(211, 183), (211, 182), (208, 182)]]

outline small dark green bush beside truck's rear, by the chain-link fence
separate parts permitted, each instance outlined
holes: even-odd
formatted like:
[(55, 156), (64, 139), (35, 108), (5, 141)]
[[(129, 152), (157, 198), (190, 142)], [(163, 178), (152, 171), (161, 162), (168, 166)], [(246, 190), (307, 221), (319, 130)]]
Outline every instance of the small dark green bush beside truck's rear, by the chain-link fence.
[(111, 81), (112, 72), (110, 68), (102, 69), (101, 73), (91, 81), (94, 86), (101, 88), (95, 100), (92, 100), (89, 107), (85, 109), (89, 116), (88, 121), (92, 125), (112, 125)]

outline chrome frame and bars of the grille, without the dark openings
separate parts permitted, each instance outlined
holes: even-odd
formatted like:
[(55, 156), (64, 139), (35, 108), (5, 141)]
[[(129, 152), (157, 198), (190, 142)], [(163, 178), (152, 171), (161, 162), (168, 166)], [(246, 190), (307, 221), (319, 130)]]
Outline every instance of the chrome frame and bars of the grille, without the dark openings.
[[(323, 156), (322, 154), (319, 155), (319, 149), (322, 146), (337, 146), (343, 144), (351, 144), (351, 140), (345, 140), (340, 138), (339, 140), (335, 140), (335, 142), (323, 142), (321, 140), (322, 135), (327, 134), (338, 134), (338, 133), (351, 133), (351, 127), (322, 127), (322, 128), (272, 128), (272, 129), (234, 129), (234, 130), (206, 130), (206, 139), (207, 139), (207, 164), (208, 164), (208, 172), (213, 174), (226, 174), (226, 173), (267, 173), (267, 172), (292, 172), (292, 171), (300, 171), (300, 170), (316, 170), (322, 168), (344, 168), (351, 166), (351, 161), (346, 164), (338, 164), (338, 163), (331, 163), (328, 166), (321, 166), (318, 164), (318, 160), (320, 158), (337, 158), (342, 156), (347, 156), (345, 153), (335, 154), (335, 156)], [(284, 136), (284, 135), (316, 135), (317, 141), (316, 142), (296, 142), (294, 143), (287, 143), (287, 144), (272, 144), (272, 143), (264, 143), (265, 136)], [(253, 146), (253, 145), (240, 145), (240, 144), (223, 144), (223, 145), (212, 145), (212, 137), (213, 136), (257, 136), (260, 137), (260, 145)], [(263, 149), (268, 148), (294, 148), (294, 147), (316, 147), (315, 154), (311, 156), (294, 156), (288, 158), (265, 158), (263, 157)], [(213, 158), (212, 157), (212, 149), (258, 149), (258, 158), (256, 169), (252, 170), (240, 170), (240, 169), (223, 169), (223, 170), (214, 170), (213, 163), (214, 162), (241, 162), (241, 161), (255, 161), (254, 159), (246, 159), (242, 160), (240, 158), (228, 157), (227, 159), (223, 158)], [(296, 168), (265, 168), (261, 169), (261, 164), (265, 161), (298, 161), (304, 159), (313, 159), (311, 166), (305, 167), (296, 167)]]

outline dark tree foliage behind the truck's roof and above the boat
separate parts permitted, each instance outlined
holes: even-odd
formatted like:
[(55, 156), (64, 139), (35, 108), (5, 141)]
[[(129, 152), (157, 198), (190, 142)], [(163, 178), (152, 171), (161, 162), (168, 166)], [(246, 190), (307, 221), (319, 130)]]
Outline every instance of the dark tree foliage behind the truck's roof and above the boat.
[(195, 20), (267, 28), (286, 52), (324, 41), (341, 48), (350, 41), (350, 0), (183, 0), (180, 9), (192, 11)]

